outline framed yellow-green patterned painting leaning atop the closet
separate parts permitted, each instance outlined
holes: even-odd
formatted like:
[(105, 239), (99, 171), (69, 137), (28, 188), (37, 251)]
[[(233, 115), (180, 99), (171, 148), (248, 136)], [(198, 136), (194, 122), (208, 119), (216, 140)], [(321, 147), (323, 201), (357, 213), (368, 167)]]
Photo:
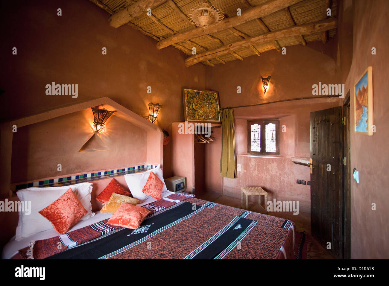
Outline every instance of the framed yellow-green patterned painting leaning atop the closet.
[(219, 123), (219, 93), (212, 90), (182, 88), (185, 121)]

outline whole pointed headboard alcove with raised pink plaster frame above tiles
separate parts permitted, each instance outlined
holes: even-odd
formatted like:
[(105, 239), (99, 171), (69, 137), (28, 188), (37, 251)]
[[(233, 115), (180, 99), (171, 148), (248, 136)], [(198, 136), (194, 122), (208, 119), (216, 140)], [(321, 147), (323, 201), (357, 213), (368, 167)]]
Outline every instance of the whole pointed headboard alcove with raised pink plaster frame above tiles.
[[(96, 133), (91, 107), (101, 105), (116, 112), (106, 132)], [(23, 184), (163, 164), (160, 128), (108, 97), (3, 123), (0, 132), (0, 198), (12, 197)]]

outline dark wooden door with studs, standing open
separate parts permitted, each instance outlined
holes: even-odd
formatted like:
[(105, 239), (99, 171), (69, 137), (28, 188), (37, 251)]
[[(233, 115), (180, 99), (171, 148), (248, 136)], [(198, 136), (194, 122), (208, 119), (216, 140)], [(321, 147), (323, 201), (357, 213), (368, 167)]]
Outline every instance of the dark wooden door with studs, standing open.
[(342, 258), (342, 107), (311, 112), (310, 141), (311, 233), (334, 258)]

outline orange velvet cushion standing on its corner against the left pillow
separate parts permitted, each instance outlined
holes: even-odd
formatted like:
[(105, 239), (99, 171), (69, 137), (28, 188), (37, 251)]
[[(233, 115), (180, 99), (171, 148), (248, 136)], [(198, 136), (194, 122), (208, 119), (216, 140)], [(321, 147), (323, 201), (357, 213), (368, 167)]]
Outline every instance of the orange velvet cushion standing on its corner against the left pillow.
[(71, 188), (68, 188), (56, 201), (39, 211), (60, 234), (67, 233), (87, 212)]

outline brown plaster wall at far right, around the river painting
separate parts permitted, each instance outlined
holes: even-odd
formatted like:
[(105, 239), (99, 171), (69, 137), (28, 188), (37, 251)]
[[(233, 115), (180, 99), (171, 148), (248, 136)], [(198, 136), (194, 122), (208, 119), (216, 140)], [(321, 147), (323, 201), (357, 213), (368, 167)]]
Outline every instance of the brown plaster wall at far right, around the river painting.
[[(389, 63), (389, 2), (386, 0), (344, 1), (345, 17), (353, 18), (352, 63), (343, 63), (347, 75), (345, 89), (351, 95), (351, 126), (354, 126), (354, 84), (368, 66), (373, 68), (373, 136), (351, 131), (351, 171), (359, 171), (359, 184), (351, 179), (351, 258), (389, 258), (389, 101), (387, 79)], [(347, 11), (352, 11), (350, 16)], [(340, 27), (347, 29), (346, 27)], [(340, 39), (349, 41), (350, 37)], [(343, 53), (350, 46), (342, 44)], [(377, 54), (371, 54), (375, 47)], [(353, 128), (353, 127), (352, 127)], [(352, 178), (352, 176), (351, 176)], [(373, 211), (371, 204), (377, 209)]]

